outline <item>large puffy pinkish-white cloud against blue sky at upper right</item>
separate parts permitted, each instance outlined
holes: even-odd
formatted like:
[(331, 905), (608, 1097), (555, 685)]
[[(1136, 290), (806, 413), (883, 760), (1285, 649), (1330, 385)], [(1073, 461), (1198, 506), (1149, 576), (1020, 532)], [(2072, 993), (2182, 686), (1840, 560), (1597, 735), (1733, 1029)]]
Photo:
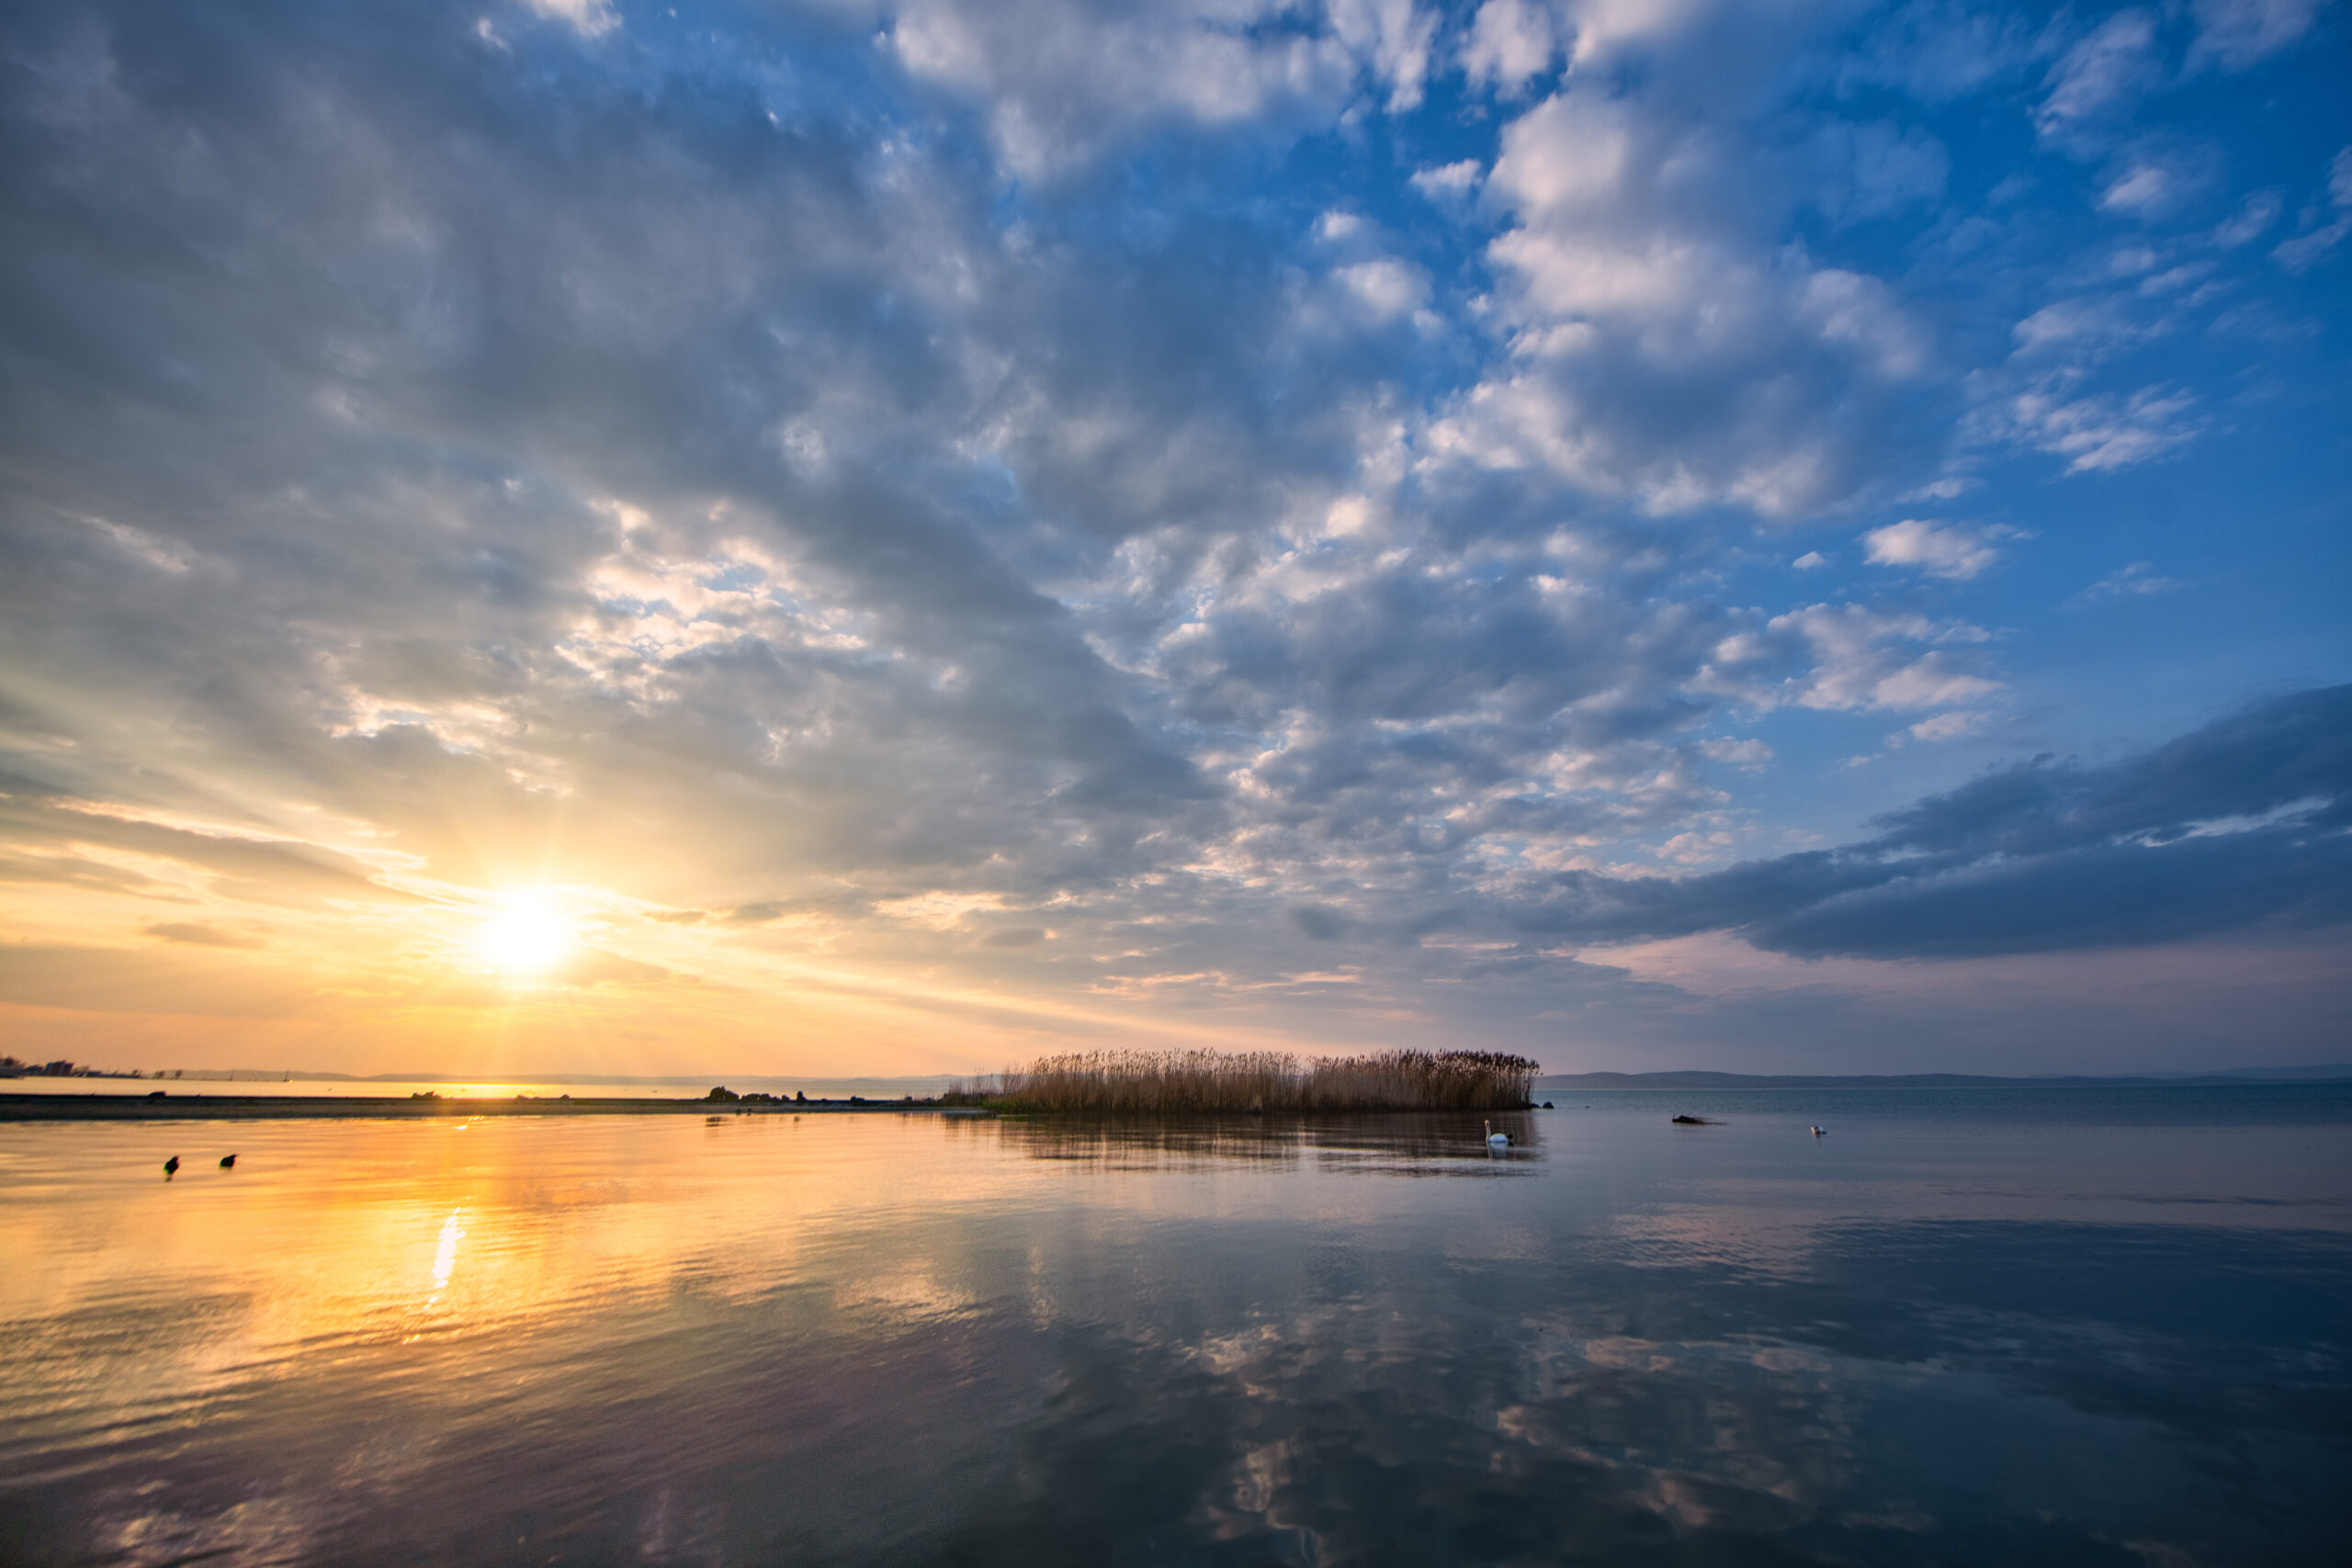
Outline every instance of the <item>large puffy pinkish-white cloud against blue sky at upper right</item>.
[(1484, 200), (1510, 360), (1430, 428), (1442, 463), (1550, 470), (1649, 512), (1835, 503), (1929, 364), (1893, 292), (1752, 228), (1731, 139), (1571, 87), (1503, 132)]

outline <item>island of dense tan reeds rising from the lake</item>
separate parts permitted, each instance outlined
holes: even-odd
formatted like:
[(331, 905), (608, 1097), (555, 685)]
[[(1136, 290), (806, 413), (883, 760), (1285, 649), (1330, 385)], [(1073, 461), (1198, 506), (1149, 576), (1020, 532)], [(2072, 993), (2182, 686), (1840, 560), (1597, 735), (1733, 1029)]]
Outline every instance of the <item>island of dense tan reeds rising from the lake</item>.
[(1543, 1067), (1498, 1051), (1080, 1051), (1042, 1056), (941, 1103), (1011, 1112), (1383, 1112), (1524, 1110)]

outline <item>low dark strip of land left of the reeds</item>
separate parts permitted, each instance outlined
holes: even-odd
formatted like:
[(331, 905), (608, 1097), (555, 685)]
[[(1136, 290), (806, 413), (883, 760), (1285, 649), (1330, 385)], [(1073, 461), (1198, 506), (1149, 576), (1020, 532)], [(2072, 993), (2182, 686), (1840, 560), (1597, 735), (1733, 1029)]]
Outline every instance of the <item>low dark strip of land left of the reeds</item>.
[(395, 1098), (395, 1095), (214, 1095), (214, 1093), (0, 1093), (5, 1121), (423, 1121), (433, 1117), (776, 1117), (901, 1112), (974, 1117), (988, 1112), (936, 1100), (623, 1100), (590, 1095), (548, 1100), (489, 1098)]

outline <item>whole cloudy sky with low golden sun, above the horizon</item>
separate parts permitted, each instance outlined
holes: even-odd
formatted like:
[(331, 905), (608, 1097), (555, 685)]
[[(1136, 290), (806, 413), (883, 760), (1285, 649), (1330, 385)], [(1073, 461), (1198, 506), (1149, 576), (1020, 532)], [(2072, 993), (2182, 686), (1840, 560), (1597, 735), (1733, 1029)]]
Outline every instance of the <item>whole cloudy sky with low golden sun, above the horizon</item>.
[(0, 1051), (2352, 1056), (2343, 5), (0, 73)]

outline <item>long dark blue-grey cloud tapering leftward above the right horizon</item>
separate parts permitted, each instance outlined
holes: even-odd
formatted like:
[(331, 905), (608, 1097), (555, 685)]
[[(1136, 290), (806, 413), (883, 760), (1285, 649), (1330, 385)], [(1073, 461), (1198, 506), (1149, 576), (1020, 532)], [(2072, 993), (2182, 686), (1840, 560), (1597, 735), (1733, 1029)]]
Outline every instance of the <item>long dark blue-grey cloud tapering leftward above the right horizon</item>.
[(1799, 957), (1983, 957), (2352, 919), (2352, 686), (2110, 766), (2037, 759), (1879, 820), (1877, 839), (1703, 877), (1566, 872), (1526, 929), (1738, 931)]

